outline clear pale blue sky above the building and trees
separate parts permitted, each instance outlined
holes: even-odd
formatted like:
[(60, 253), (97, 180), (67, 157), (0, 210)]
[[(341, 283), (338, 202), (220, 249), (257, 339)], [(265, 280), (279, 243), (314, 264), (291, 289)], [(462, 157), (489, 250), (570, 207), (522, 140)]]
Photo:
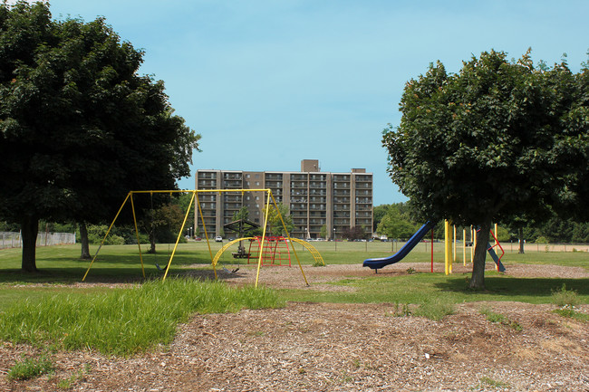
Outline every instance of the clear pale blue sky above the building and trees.
[(103, 16), (145, 51), (175, 114), (202, 135), (198, 168), (373, 173), (374, 205), (406, 201), (381, 132), (401, 120), (404, 85), (441, 61), (494, 49), (578, 72), (589, 50), (586, 0), (52, 0), (53, 18)]

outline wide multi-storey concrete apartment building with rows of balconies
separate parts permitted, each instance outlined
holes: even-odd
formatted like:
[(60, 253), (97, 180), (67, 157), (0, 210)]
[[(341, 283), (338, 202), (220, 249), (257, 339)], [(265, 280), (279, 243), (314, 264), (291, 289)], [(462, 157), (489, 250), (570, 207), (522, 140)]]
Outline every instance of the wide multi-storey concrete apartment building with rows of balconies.
[[(246, 189), (198, 195), (209, 236), (220, 235), (242, 206), (249, 211), (248, 220), (264, 223), (266, 194), (247, 189), (271, 189), (276, 202), (288, 206), (294, 237), (321, 238), (323, 225), (329, 238), (342, 238), (345, 227), (356, 225), (372, 233), (372, 173), (364, 168), (328, 173), (320, 170), (318, 160), (304, 159), (298, 172), (198, 169), (196, 189)], [(204, 235), (198, 214), (195, 227)]]

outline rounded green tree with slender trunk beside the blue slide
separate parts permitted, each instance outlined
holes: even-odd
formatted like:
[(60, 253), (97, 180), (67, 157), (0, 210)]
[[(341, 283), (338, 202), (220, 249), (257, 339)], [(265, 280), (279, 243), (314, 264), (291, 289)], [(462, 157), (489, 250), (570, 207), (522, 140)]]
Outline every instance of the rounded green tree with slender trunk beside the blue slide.
[[(383, 132), (392, 180), (421, 219), (480, 228), (472, 288), (485, 287), (492, 222), (549, 216), (555, 185), (580, 186), (555, 150), (575, 97), (575, 83), (563, 82), (569, 74), (565, 64), (538, 69), (529, 52), (517, 62), (481, 53), (458, 74), (437, 62), (407, 82), (401, 124)], [(576, 120), (586, 129), (586, 117)], [(586, 170), (586, 155), (575, 157)]]

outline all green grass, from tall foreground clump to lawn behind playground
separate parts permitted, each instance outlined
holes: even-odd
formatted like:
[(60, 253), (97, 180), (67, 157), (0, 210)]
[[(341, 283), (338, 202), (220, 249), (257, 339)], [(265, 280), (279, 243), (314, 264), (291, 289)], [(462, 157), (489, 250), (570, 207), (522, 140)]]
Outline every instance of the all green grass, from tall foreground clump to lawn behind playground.
[[(361, 264), (366, 258), (386, 256), (398, 250), (398, 246), (391, 243), (312, 244), (327, 264)], [(211, 243), (213, 255), (222, 245)], [(237, 250), (237, 244), (234, 246), (236, 249), (227, 249), (221, 257), (220, 265), (245, 263), (231, 257), (231, 252)], [(302, 245), (294, 246), (301, 263), (314, 264), (311, 253)], [(132, 289), (73, 286), (71, 283), (82, 280), (90, 264), (79, 260), (79, 245), (37, 248), (37, 267), (41, 272), (35, 274), (20, 271), (20, 249), (0, 250), (0, 325), (3, 326), (0, 339), (56, 349), (92, 348), (125, 356), (169, 343), (178, 323), (188, 320), (192, 314), (276, 307), (285, 301), (397, 303), (401, 304), (401, 310), (405, 310), (401, 312), (406, 314), (401, 315), (432, 320), (451, 314), (456, 304), (465, 301), (559, 303), (555, 296), (560, 296), (565, 299), (559, 301), (570, 302), (572, 297), (575, 304), (589, 303), (589, 279), (526, 279), (497, 272), (486, 273), (487, 290), (483, 292), (468, 290), (469, 274), (447, 276), (439, 272), (401, 276), (374, 274), (362, 279), (342, 279), (331, 284), (353, 290), (337, 292), (315, 291), (313, 283), (303, 290), (269, 291), (251, 287), (237, 290), (223, 283), (189, 279), (169, 278), (167, 282), (160, 282), (162, 272), (156, 269), (155, 263), (166, 264), (171, 247), (159, 244), (158, 254), (143, 254), (147, 279), (141, 275), (136, 245), (102, 247), (87, 282), (136, 282)], [(91, 253), (96, 249), (96, 246), (91, 247)], [(145, 251), (147, 247), (142, 249)], [(403, 262), (427, 263), (430, 261), (429, 249), (429, 244), (418, 244)], [(295, 265), (294, 254), (291, 256)], [(437, 271), (443, 270), (441, 244), (435, 244), (434, 261)], [(589, 268), (587, 253), (580, 252), (507, 253), (503, 262), (507, 269), (515, 263)], [(181, 276), (195, 268), (208, 271), (213, 277), (207, 244), (180, 244), (169, 276)], [(401, 270), (409, 271), (402, 267), (402, 263)], [(152, 282), (155, 280), (158, 282)], [(567, 317), (582, 320), (575, 311)]]

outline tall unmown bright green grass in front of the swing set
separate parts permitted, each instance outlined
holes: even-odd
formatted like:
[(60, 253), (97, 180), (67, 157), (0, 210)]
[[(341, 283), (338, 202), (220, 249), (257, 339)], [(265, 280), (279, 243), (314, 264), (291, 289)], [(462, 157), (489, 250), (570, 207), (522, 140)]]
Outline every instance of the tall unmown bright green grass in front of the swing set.
[(265, 288), (169, 279), (96, 295), (70, 293), (16, 302), (0, 313), (0, 339), (127, 356), (169, 343), (178, 323), (194, 313), (282, 304)]

